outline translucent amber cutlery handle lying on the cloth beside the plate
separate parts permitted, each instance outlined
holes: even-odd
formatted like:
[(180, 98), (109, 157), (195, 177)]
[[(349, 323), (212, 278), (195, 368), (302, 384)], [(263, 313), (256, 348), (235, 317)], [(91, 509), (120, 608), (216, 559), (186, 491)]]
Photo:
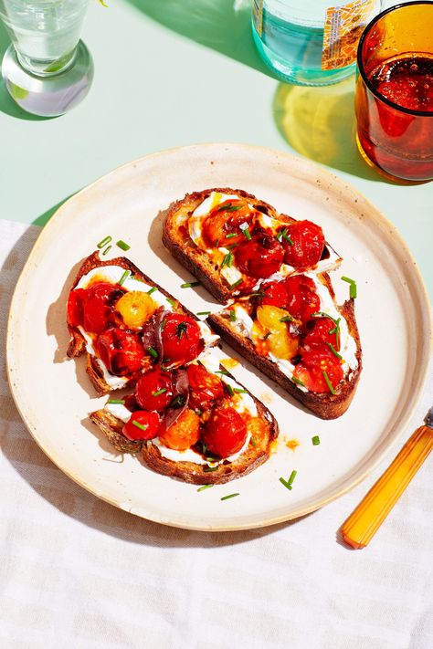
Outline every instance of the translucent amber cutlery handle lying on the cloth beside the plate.
[(364, 500), (344, 521), (341, 533), (348, 545), (359, 550), (373, 539), (432, 448), (433, 428), (420, 426), (384, 475), (379, 477)]

